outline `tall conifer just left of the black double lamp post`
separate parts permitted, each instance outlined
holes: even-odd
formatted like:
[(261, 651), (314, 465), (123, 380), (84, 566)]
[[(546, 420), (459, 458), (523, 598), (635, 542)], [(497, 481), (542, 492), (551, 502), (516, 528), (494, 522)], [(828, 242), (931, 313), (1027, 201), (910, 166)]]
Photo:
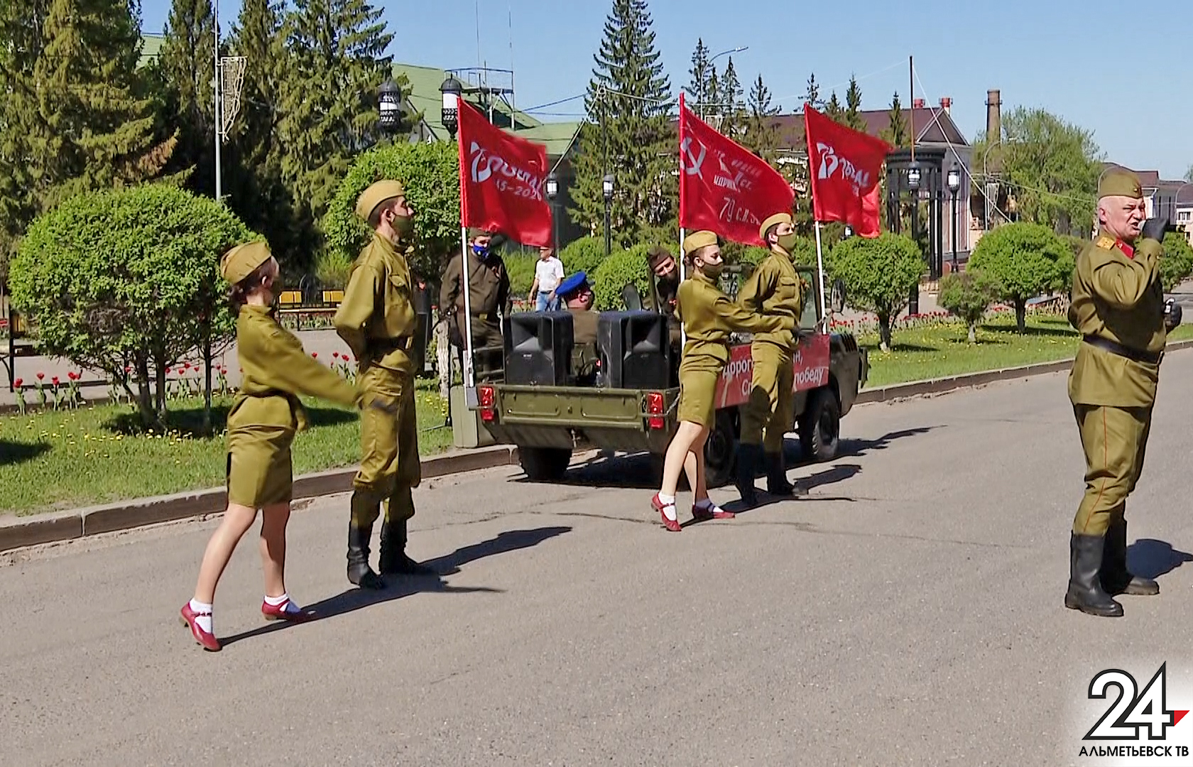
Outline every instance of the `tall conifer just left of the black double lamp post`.
[[(377, 88), (394, 36), (366, 0), (296, 0), (282, 83), (282, 178), (304, 223), (319, 221), (352, 155), (377, 138)], [(315, 243), (310, 243), (315, 245)]]

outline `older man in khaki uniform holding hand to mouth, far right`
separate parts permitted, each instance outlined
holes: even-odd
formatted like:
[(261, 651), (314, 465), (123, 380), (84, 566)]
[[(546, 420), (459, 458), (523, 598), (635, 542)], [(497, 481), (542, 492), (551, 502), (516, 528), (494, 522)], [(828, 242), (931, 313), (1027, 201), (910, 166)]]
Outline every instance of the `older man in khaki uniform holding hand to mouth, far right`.
[(1073, 520), (1064, 604), (1119, 617), (1112, 594), (1160, 593), (1155, 581), (1126, 569), (1124, 514), (1143, 469), (1170, 322), (1160, 278), (1168, 222), (1144, 222), (1133, 173), (1111, 169), (1098, 186), (1100, 233), (1077, 256), (1069, 307), (1069, 322), (1083, 335), (1069, 400), (1086, 452), (1086, 494)]

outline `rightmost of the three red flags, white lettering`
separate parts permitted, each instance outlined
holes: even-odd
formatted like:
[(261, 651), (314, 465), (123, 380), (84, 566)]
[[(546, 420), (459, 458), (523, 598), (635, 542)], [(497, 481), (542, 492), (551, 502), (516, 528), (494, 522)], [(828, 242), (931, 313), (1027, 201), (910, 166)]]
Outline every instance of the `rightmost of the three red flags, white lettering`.
[(846, 128), (804, 104), (808, 178), (816, 221), (842, 221), (863, 237), (878, 236), (878, 177), (891, 146)]

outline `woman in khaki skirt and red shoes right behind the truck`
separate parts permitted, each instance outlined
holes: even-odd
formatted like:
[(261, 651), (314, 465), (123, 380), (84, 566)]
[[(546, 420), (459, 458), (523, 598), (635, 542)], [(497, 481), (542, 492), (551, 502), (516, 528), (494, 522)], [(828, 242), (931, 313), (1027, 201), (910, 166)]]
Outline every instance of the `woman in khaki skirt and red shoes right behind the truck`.
[[(704, 441), (716, 414), (717, 379), (729, 361), (729, 334), (733, 330), (773, 333), (791, 330), (795, 320), (789, 316), (764, 317), (734, 303), (717, 287), (717, 277), (724, 267), (717, 235), (694, 231), (684, 240), (684, 258), (692, 271), (691, 278), (680, 283), (675, 315), (684, 322), (687, 344), (679, 365), (679, 429), (667, 447), (663, 462), (662, 488), (650, 499), (651, 508), (662, 517), (663, 526), (679, 532), (675, 512), (675, 487), (679, 472), (687, 470), (688, 482), (696, 491), (692, 517), (697, 520), (731, 519), (733, 513), (709, 499), (704, 474)], [(694, 475), (694, 477), (693, 477)]]

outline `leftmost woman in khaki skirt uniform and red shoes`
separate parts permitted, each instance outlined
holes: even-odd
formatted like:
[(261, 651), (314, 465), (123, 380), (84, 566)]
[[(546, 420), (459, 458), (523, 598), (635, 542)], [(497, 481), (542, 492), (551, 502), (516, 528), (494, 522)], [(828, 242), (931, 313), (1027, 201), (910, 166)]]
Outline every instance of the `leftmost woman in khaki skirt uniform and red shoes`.
[[(311, 359), (302, 342), (273, 318), (278, 262), (264, 242), (240, 245), (220, 262), (237, 310), (236, 354), (243, 377), (228, 413), (228, 511), (212, 533), (199, 567), (194, 599), (183, 606), (183, 624), (205, 650), (218, 650), (211, 624), (216, 584), (231, 552), (261, 509), (261, 569), (268, 620), (302, 621), (286, 594), (284, 570), (290, 519), (290, 445), (307, 428), (299, 394), (361, 406), (365, 397), (339, 375)], [(378, 406), (379, 407), (379, 406)]]

